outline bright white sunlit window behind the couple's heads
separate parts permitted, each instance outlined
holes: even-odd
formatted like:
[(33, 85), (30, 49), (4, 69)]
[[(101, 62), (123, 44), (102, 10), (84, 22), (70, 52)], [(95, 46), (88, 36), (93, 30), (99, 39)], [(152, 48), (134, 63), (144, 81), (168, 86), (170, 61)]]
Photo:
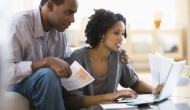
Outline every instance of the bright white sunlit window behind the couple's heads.
[[(94, 9), (104, 8), (123, 14), (131, 29), (153, 28), (153, 16), (156, 12), (163, 13), (161, 28), (174, 27), (174, 0), (78, 0), (79, 8), (75, 16), (75, 23), (69, 29), (84, 29), (88, 17)], [(11, 6), (9, 15), (18, 11), (36, 8), (40, 0), (7, 0)], [(2, 5), (3, 6), (3, 5)], [(84, 14), (85, 12), (85, 14)]]

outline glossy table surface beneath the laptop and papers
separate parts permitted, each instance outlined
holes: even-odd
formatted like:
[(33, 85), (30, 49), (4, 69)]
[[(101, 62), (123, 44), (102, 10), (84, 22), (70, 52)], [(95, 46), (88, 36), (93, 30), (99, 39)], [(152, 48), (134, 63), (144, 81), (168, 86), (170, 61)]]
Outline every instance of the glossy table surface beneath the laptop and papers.
[[(116, 104), (114, 101), (106, 101), (101, 104)], [(81, 110), (103, 110), (100, 104), (83, 108)], [(110, 109), (110, 110), (190, 110), (190, 86), (176, 87), (172, 96), (158, 103), (139, 106), (131, 109)]]

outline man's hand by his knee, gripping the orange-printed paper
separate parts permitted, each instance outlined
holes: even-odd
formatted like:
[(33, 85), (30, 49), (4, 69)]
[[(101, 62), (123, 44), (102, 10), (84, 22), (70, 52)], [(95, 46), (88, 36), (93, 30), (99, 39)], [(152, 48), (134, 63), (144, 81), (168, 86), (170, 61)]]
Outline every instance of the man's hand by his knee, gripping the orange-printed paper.
[(69, 78), (72, 74), (70, 65), (56, 57), (49, 57), (48, 66), (52, 68), (60, 78)]

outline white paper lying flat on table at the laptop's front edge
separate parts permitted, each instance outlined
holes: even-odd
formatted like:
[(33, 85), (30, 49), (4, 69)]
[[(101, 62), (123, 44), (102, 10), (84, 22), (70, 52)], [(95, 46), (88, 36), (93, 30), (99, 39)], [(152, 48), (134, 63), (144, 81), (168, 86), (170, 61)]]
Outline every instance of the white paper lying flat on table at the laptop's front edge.
[(118, 109), (118, 108), (135, 108), (137, 106), (129, 106), (127, 104), (100, 104), (105, 109)]

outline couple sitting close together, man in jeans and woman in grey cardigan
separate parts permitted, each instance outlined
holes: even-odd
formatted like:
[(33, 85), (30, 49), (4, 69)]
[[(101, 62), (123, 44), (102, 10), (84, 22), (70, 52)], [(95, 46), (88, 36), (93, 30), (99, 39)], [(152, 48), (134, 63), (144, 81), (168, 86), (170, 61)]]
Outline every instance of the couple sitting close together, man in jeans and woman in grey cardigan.
[[(121, 14), (95, 10), (85, 29), (90, 47), (71, 52), (64, 31), (75, 21), (77, 8), (77, 0), (41, 0), (39, 8), (12, 17), (9, 90), (23, 95), (37, 110), (79, 109), (120, 97), (136, 97), (136, 92), (159, 93), (162, 85), (152, 88), (138, 79), (130, 64), (120, 61), (127, 58), (121, 58), (120, 51), (127, 37), (126, 20)], [(70, 77), (69, 64), (75, 60), (95, 81), (68, 92), (62, 90), (59, 78)], [(117, 91), (118, 84), (134, 91)]]

